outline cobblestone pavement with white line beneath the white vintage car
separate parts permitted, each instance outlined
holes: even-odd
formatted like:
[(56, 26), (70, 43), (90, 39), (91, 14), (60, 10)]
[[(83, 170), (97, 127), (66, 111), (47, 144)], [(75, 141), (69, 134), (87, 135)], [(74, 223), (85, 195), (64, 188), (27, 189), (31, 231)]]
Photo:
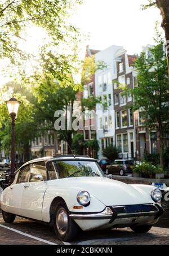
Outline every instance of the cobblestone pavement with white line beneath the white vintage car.
[[(5, 227), (24, 233), (16, 233)], [(33, 236), (27, 237), (27, 235)], [(38, 241), (40, 238), (42, 241)], [(45, 240), (45, 241), (44, 241)], [(46, 224), (33, 222), (17, 217), (15, 222), (7, 224), (3, 222), (0, 212), (0, 245), (5, 244), (63, 244), (57, 240), (54, 231)], [(80, 245), (114, 245), (114, 244), (169, 244), (169, 229), (153, 227), (148, 233), (136, 234), (130, 228), (119, 228), (108, 231), (81, 232), (78, 240), (72, 244)]]

